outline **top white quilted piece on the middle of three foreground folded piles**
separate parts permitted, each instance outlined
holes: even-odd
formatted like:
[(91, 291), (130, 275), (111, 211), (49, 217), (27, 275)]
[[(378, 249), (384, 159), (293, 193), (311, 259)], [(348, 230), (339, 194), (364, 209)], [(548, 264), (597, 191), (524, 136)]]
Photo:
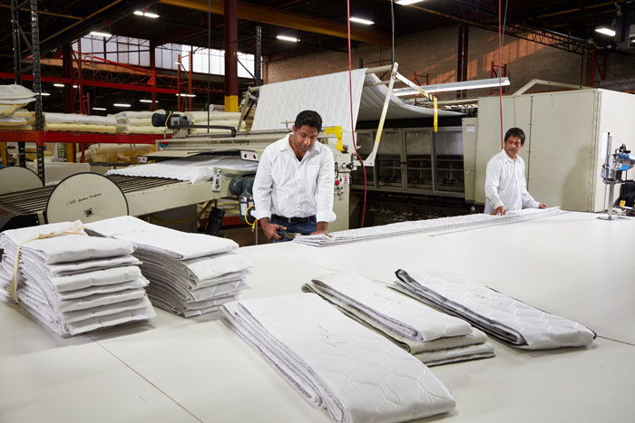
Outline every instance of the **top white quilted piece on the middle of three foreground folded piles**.
[(314, 278), (311, 284), (321, 293), (349, 304), (369, 319), (413, 341), (472, 333), (468, 322), (437, 312), (355, 272), (326, 274)]

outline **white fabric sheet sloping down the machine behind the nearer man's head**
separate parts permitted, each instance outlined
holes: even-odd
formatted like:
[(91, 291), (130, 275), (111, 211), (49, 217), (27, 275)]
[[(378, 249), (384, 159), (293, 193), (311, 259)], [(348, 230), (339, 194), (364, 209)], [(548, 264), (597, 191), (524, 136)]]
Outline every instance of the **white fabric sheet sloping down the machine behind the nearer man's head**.
[[(357, 122), (365, 74), (366, 69), (352, 72), (353, 122)], [(298, 113), (309, 110), (319, 113), (323, 128), (341, 126), (351, 132), (355, 127), (351, 128), (349, 92), (348, 72), (262, 85), (251, 130), (290, 130)]]

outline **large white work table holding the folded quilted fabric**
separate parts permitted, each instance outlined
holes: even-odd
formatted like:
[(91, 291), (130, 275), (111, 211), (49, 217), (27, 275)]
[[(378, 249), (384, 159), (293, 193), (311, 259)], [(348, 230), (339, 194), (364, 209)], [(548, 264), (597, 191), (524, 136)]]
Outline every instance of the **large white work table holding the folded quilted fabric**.
[[(389, 284), (407, 264), (443, 264), (591, 328), (589, 348), (523, 351), (433, 368), (457, 407), (447, 421), (632, 421), (635, 219), (560, 216), (325, 248), (241, 248), (243, 298), (298, 293), (314, 276), (356, 271)], [(0, 422), (327, 422), (243, 341), (204, 316), (157, 309), (150, 322), (59, 339), (0, 303)]]

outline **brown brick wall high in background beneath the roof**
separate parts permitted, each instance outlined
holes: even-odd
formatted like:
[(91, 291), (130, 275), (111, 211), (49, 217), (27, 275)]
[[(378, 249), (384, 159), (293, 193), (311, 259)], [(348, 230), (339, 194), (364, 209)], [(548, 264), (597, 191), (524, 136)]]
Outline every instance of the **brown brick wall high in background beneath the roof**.
[[(413, 73), (425, 73), (430, 83), (456, 81), (458, 27), (416, 34), (396, 40), (396, 61), (399, 72), (412, 79)], [(353, 67), (359, 66), (359, 58), (366, 64), (390, 59), (390, 47), (364, 45), (352, 53)], [(468, 79), (490, 78), (491, 62), (498, 62), (498, 34), (470, 27), (468, 43)], [(581, 55), (567, 53), (539, 43), (505, 36), (503, 39), (503, 63), (507, 63), (507, 76), (513, 92), (532, 79), (579, 84), (581, 82)], [(384, 62), (386, 63), (386, 62)], [(318, 74), (347, 70), (347, 53), (316, 53), (298, 58), (269, 62), (267, 82), (288, 81)]]

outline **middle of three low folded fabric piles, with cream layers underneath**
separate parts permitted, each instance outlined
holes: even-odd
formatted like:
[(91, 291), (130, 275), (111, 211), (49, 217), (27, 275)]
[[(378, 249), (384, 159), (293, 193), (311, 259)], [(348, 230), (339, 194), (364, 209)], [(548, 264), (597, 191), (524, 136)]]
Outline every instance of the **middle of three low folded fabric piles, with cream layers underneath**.
[(427, 366), (493, 357), (484, 332), (353, 272), (304, 285), (358, 322), (384, 334)]

